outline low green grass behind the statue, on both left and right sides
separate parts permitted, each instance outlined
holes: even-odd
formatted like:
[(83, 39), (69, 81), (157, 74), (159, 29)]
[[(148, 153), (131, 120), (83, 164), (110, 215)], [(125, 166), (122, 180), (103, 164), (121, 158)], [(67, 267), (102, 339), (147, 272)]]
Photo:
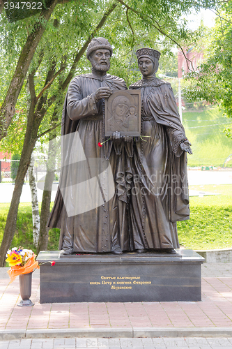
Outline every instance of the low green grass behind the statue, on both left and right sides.
[[(180, 244), (194, 250), (232, 247), (232, 185), (190, 186), (198, 191), (221, 195), (191, 197), (189, 221), (178, 222)], [(53, 205), (53, 204), (52, 204)], [(10, 204), (0, 204), (0, 242)], [(20, 204), (17, 230), (11, 247), (24, 246), (36, 252), (33, 246), (31, 204)], [(48, 250), (59, 249), (59, 229), (49, 231)]]

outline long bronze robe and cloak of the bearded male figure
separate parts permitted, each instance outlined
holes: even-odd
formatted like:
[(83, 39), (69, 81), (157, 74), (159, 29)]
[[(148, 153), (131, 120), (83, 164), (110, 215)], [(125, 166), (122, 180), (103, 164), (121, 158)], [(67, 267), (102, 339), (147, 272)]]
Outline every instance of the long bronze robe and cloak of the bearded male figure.
[[(98, 142), (105, 140), (103, 101), (96, 105), (92, 98), (99, 87), (111, 87), (113, 91), (126, 89), (124, 80), (113, 75), (80, 75), (70, 83), (63, 107), (63, 164), (48, 226), (61, 228), (59, 248), (74, 252), (102, 253), (118, 246), (124, 251), (129, 248), (127, 189), (130, 184), (125, 184), (125, 170), (127, 174), (131, 172), (127, 165), (132, 156), (131, 144), (109, 141), (98, 147)], [(107, 177), (110, 171), (113, 181)], [(91, 186), (94, 176), (95, 184)], [(130, 177), (131, 174), (127, 181)]]

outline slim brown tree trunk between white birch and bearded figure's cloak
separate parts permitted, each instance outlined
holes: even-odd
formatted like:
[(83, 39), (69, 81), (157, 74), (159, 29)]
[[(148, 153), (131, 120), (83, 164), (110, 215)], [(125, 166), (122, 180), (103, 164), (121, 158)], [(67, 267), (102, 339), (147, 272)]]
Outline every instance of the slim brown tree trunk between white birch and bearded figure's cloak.
[(45, 188), (42, 193), (42, 204), (40, 212), (40, 239), (38, 243), (37, 253), (47, 249), (48, 233), (47, 220), (50, 214), (50, 204), (52, 196), (52, 184), (55, 175), (56, 166), (56, 135), (50, 136), (49, 149), (47, 156), (47, 174), (45, 177)]

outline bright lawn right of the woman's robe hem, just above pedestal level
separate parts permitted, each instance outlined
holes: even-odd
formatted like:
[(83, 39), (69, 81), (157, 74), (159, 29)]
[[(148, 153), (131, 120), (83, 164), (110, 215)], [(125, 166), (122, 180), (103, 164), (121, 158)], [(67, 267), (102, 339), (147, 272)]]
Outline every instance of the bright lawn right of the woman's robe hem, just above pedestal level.
[(190, 189), (222, 195), (190, 198), (190, 220), (178, 222), (180, 244), (194, 250), (232, 248), (232, 185)]

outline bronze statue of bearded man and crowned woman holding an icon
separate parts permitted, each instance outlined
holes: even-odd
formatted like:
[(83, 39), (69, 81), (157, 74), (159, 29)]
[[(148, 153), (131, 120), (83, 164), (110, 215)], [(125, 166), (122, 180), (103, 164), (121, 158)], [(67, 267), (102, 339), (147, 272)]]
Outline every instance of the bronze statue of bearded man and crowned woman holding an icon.
[(176, 253), (176, 222), (190, 215), (191, 144), (171, 85), (155, 77), (160, 52), (137, 50), (142, 79), (129, 90), (107, 74), (111, 54), (108, 40), (93, 38), (86, 53), (92, 73), (68, 88), (61, 178), (48, 226), (61, 228), (65, 255)]

